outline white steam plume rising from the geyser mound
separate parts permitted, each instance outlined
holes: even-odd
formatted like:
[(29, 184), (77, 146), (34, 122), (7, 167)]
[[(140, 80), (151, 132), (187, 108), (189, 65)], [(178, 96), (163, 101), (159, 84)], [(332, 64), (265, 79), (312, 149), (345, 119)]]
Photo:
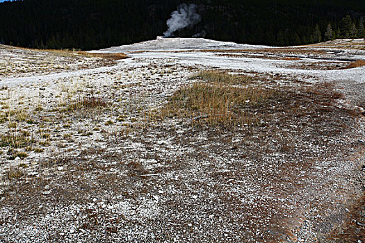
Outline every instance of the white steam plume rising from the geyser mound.
[(168, 30), (163, 33), (163, 37), (170, 37), (175, 31), (187, 26), (193, 26), (200, 22), (200, 20), (201, 18), (196, 11), (195, 4), (191, 3), (187, 5), (186, 3), (182, 3), (177, 7), (176, 11), (171, 13), (171, 18), (166, 22), (168, 24)]

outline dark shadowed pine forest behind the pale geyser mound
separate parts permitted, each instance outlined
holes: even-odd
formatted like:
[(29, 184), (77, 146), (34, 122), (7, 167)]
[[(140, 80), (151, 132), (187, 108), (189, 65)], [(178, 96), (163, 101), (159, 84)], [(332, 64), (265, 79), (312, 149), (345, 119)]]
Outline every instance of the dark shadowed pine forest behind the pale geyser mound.
[(89, 50), (153, 40), (180, 3), (195, 3), (202, 21), (177, 37), (276, 46), (365, 37), (364, 0), (23, 0), (0, 3), (0, 43)]

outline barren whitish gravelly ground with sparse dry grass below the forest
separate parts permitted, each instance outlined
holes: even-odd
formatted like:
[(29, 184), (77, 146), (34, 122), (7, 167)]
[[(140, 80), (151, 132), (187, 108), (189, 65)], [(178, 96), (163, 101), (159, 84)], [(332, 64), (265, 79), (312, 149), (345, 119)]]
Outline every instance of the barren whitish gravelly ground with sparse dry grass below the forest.
[(0, 242), (365, 241), (364, 40), (0, 56)]

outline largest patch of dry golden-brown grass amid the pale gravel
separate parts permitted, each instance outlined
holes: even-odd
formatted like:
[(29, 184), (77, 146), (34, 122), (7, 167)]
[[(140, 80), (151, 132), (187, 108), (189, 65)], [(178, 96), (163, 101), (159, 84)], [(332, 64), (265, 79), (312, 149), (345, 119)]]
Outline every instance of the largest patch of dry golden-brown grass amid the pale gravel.
[(208, 124), (252, 124), (252, 108), (266, 103), (276, 93), (268, 88), (231, 85), (247, 83), (249, 77), (216, 71), (199, 72), (196, 77), (209, 83), (194, 83), (175, 92), (161, 109), (162, 117), (190, 117)]

